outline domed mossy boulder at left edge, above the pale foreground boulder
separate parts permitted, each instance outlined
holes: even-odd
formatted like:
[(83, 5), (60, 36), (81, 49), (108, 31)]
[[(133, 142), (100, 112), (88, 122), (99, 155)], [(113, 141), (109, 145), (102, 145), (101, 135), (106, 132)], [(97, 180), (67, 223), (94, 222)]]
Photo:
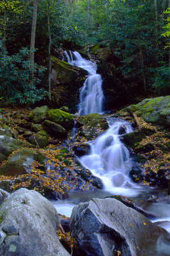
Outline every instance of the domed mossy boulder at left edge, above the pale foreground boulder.
[(36, 150), (28, 148), (21, 149), (11, 156), (3, 167), (0, 168), (0, 175), (21, 175), (31, 172), (31, 164), (37, 161), (44, 164), (45, 157)]

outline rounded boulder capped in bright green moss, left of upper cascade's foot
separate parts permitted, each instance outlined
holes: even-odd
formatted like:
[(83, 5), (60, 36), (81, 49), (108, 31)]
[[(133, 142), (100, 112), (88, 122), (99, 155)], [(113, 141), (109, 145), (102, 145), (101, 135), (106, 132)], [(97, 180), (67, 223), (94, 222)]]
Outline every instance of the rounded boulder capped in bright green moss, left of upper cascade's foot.
[(66, 112), (60, 110), (60, 109), (48, 110), (46, 119), (61, 125), (67, 131), (72, 129), (74, 126), (73, 116), (69, 113), (66, 113)]

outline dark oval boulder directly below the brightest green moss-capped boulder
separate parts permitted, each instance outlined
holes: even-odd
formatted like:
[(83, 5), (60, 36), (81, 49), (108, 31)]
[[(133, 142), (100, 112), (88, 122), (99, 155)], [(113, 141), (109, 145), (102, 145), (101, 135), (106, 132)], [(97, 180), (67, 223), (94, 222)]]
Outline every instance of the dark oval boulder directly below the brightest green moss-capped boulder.
[(54, 122), (45, 120), (43, 122), (43, 128), (46, 132), (54, 136), (55, 138), (66, 138), (67, 131), (59, 124), (55, 124)]

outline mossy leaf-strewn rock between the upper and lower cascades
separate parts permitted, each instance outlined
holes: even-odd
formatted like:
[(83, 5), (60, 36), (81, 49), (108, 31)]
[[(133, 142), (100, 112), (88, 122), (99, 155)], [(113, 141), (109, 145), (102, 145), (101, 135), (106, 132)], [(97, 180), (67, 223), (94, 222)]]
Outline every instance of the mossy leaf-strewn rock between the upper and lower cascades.
[(96, 132), (105, 131), (109, 127), (106, 119), (96, 113), (80, 116), (77, 126), (80, 127), (80, 135), (89, 140), (94, 138)]

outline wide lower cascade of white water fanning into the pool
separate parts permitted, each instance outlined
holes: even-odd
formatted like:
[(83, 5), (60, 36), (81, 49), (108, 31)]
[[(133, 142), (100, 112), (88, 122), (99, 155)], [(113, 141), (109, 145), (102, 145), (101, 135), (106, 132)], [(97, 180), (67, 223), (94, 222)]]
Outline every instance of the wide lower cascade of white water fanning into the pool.
[(79, 160), (93, 175), (103, 180), (106, 190), (127, 195), (127, 188), (131, 191), (135, 186), (128, 177), (133, 163), (129, 150), (119, 137), (120, 134), (132, 132), (132, 127), (117, 118), (111, 118), (108, 124), (109, 129), (90, 143), (90, 155), (80, 157)]

